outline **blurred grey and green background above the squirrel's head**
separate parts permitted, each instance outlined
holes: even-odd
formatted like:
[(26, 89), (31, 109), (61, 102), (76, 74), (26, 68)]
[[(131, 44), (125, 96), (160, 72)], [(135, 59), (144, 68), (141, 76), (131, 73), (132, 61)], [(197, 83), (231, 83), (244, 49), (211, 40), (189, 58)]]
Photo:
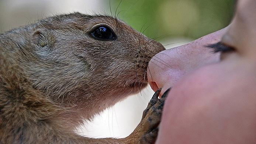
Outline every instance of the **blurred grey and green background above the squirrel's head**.
[(150, 38), (194, 40), (227, 26), (234, 0), (0, 0), (0, 31), (72, 11), (110, 15), (110, 5), (113, 16)]

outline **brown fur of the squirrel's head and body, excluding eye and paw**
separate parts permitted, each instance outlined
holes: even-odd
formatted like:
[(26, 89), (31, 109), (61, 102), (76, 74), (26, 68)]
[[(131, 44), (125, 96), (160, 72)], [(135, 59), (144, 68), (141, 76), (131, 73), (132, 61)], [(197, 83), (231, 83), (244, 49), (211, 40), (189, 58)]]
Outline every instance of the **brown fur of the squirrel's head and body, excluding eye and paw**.
[[(98, 23), (109, 25), (117, 38), (91, 37)], [(1, 34), (0, 143), (135, 143), (143, 134), (89, 139), (73, 130), (144, 88), (149, 60), (163, 50), (101, 15), (58, 15)]]

